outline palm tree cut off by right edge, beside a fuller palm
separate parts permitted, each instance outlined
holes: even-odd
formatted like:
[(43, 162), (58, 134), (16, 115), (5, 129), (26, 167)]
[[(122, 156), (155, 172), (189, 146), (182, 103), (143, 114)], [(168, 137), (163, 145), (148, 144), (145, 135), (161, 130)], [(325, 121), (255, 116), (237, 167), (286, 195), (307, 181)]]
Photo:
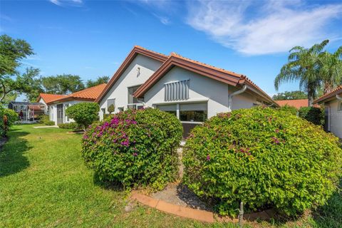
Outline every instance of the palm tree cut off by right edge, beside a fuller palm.
[(324, 51), (319, 55), (319, 74), (323, 83), (323, 93), (329, 93), (342, 84), (342, 46), (335, 53)]

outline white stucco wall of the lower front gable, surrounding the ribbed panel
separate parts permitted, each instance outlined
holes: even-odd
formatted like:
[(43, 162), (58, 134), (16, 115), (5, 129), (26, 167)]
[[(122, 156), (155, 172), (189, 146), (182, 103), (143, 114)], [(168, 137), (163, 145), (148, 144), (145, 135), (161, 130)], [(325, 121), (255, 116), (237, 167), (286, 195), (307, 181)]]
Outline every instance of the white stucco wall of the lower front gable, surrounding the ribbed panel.
[[(189, 99), (175, 102), (165, 102), (164, 84), (172, 81), (184, 81), (190, 79)], [(160, 103), (196, 103), (207, 101), (208, 118), (217, 113), (229, 112), (228, 95), (229, 91), (233, 93), (237, 88), (228, 86), (225, 83), (201, 76), (192, 71), (187, 71), (180, 67), (174, 67), (164, 77), (160, 79), (150, 90), (145, 93), (145, 105), (153, 106)], [(256, 103), (257, 98), (242, 93), (232, 99), (232, 110), (238, 108), (251, 108)]]

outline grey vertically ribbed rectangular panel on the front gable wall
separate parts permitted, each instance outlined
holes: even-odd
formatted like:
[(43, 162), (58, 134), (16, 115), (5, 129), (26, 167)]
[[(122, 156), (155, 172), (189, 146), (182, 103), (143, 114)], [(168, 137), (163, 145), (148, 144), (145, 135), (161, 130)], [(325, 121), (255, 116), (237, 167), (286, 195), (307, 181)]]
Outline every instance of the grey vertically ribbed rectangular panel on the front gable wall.
[(165, 83), (165, 101), (189, 99), (190, 80)]

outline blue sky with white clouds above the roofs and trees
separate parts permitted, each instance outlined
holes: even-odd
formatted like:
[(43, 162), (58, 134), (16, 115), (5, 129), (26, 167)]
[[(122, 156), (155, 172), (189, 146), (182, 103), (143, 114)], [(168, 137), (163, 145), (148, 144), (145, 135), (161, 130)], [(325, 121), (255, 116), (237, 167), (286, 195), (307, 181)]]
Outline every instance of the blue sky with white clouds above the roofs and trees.
[(113, 76), (140, 45), (242, 73), (269, 95), (291, 47), (328, 38), (335, 51), (341, 24), (341, 1), (0, 1), (0, 33), (31, 43), (23, 66), (42, 76)]

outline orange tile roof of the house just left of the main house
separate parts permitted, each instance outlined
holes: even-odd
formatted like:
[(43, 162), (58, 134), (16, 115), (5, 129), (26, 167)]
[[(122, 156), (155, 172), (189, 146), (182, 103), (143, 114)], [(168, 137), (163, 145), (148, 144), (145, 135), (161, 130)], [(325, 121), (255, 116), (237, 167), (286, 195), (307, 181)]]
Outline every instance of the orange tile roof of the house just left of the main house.
[(100, 84), (98, 86), (93, 86), (86, 88), (85, 90), (78, 91), (76, 93), (71, 93), (70, 95), (65, 95), (63, 98), (58, 98), (56, 100), (51, 100), (49, 103), (62, 102), (63, 100), (91, 100), (95, 101), (96, 98), (102, 93), (106, 83)]

